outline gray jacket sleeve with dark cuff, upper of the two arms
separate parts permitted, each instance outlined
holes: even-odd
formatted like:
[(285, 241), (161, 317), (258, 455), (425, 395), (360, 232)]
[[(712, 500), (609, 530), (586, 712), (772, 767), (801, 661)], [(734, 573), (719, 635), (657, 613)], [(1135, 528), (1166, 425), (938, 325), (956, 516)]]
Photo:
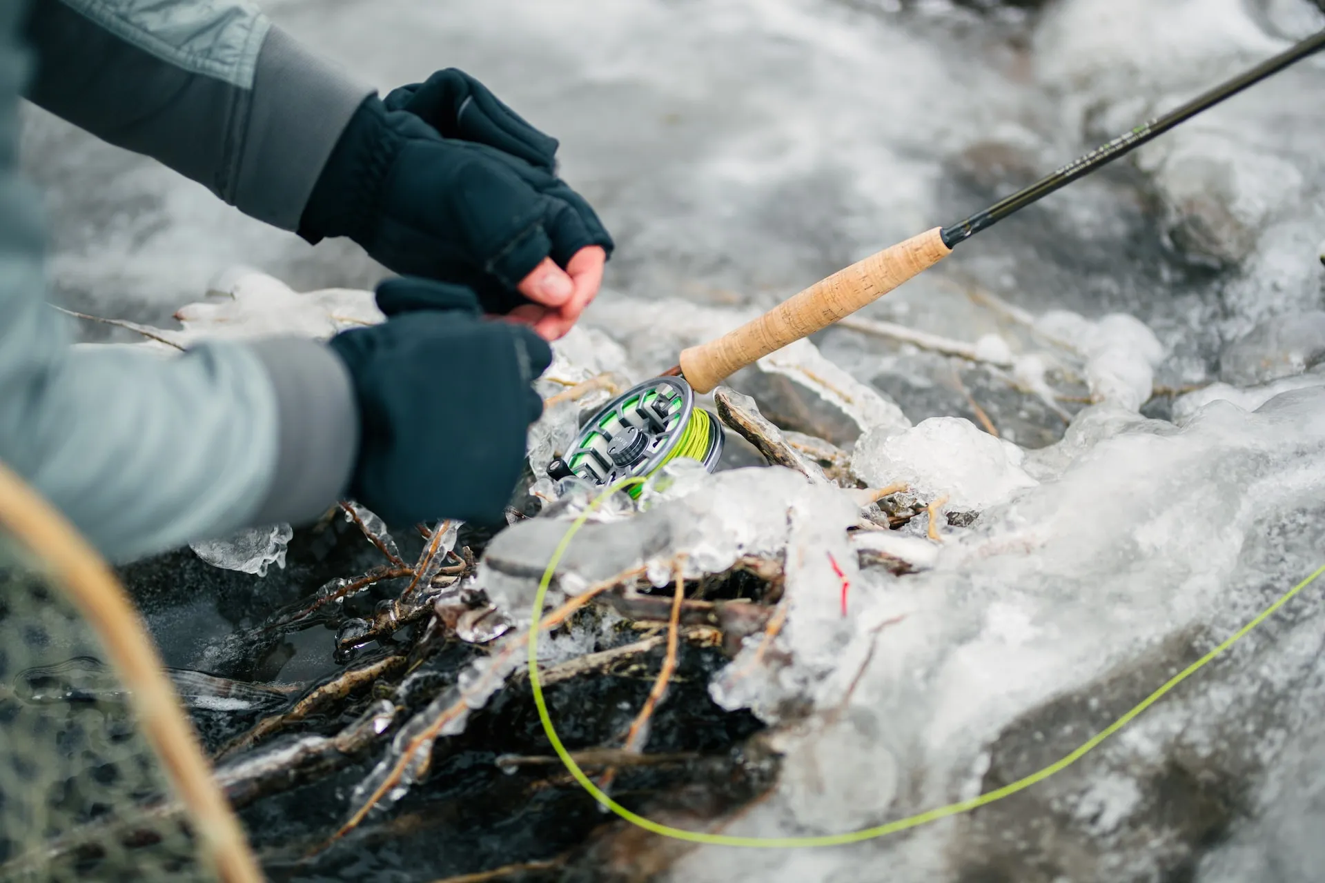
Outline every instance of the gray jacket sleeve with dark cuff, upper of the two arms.
[(240, 0), (33, 0), (26, 34), (33, 103), (288, 230), (372, 93)]

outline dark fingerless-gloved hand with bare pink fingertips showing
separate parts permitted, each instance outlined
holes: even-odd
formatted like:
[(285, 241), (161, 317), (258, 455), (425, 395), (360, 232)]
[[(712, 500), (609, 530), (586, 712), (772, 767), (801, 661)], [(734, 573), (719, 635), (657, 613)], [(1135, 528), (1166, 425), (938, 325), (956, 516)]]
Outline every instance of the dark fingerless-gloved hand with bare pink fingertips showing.
[(299, 234), (348, 236), (398, 273), (464, 285), (488, 312), (566, 334), (612, 240), (556, 177), (556, 142), (456, 70), (387, 98), (350, 120)]

